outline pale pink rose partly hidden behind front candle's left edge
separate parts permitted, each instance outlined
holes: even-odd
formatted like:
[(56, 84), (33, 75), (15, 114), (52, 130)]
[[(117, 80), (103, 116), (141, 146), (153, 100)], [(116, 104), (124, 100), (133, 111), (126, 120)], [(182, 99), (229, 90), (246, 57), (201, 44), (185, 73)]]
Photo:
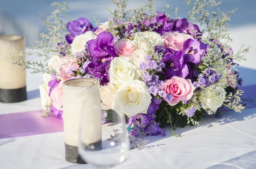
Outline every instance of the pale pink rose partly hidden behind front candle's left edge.
[(61, 106), (63, 105), (62, 102), (62, 83), (61, 81), (55, 89), (52, 90), (50, 97), (52, 98), (52, 105), (58, 109), (62, 110)]

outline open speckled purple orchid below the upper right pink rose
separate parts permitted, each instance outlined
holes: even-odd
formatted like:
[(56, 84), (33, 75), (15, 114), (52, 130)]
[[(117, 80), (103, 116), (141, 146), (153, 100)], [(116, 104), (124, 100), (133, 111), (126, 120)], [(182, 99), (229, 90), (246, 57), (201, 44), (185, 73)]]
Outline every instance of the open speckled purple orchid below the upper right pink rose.
[(188, 39), (183, 43), (185, 63), (192, 62), (198, 64), (204, 53), (207, 53), (209, 45), (201, 43), (197, 39)]

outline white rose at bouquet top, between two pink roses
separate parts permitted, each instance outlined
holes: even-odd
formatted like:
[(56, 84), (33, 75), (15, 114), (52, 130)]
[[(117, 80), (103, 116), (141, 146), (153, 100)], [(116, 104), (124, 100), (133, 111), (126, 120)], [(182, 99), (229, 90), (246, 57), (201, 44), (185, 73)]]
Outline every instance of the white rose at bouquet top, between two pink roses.
[[(148, 39), (148, 40), (146, 40)], [(154, 46), (163, 46), (164, 44), (164, 38), (158, 34), (157, 32), (140, 32), (138, 35), (137, 33), (135, 34), (134, 41), (138, 42), (138, 48), (147, 50), (147, 41), (153, 43)]]

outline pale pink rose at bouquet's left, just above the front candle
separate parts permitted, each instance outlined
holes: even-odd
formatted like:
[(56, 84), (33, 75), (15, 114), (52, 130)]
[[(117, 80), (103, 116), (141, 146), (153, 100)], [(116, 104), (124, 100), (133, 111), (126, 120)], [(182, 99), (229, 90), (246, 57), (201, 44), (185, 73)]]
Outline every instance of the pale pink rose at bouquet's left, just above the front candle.
[(71, 74), (67, 74), (67, 72), (69, 72), (72, 66), (75, 70), (79, 68), (79, 65), (76, 63), (76, 57), (61, 57), (60, 65), (56, 70), (59, 70), (60, 68), (62, 70), (57, 78), (61, 79), (61, 81), (67, 80), (71, 76)]

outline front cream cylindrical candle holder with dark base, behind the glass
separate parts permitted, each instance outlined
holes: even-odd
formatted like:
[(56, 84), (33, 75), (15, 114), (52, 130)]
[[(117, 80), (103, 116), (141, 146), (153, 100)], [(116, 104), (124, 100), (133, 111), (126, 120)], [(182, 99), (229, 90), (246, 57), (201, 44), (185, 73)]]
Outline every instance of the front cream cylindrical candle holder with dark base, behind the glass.
[[(99, 81), (77, 78), (63, 83), (63, 121), (65, 135), (65, 158), (70, 163), (84, 163), (79, 156), (79, 127), (83, 113), (84, 143), (95, 150), (102, 146), (102, 120)], [(91, 129), (93, 127), (93, 129)]]

